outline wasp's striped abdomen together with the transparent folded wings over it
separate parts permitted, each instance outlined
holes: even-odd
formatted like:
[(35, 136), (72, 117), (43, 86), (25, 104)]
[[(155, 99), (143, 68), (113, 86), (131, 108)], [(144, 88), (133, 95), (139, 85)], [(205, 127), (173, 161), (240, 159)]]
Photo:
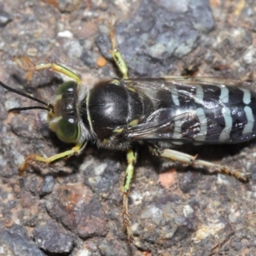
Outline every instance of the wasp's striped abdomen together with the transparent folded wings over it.
[(183, 79), (148, 88), (156, 108), (129, 127), (130, 139), (241, 143), (256, 135), (256, 94), (245, 87)]

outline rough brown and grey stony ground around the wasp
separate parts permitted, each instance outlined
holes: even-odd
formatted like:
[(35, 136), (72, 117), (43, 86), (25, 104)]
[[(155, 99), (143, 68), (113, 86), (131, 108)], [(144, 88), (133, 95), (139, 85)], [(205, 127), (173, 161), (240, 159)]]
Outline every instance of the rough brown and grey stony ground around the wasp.
[[(175, 2), (0, 1), (0, 80), (54, 100), (67, 78), (49, 70), (28, 75), (12, 61), (17, 55), (58, 61), (88, 87), (119, 77), (109, 54), (111, 13), (131, 78), (255, 79), (255, 0)], [(0, 255), (256, 255), (255, 141), (184, 148), (250, 173), (247, 183), (173, 167), (141, 148), (129, 202), (135, 240), (129, 243), (120, 217), (125, 153), (90, 143), (79, 157), (20, 177), (26, 155), (51, 156), (70, 146), (49, 131), (45, 111), (8, 113), (34, 103), (3, 88), (0, 94)]]

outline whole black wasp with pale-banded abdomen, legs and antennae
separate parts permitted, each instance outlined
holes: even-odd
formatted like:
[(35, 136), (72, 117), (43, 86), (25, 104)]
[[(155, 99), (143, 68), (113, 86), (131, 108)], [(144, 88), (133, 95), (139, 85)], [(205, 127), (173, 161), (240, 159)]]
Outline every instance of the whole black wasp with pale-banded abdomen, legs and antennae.
[(247, 83), (230, 79), (130, 79), (125, 61), (117, 49), (113, 26), (110, 26), (110, 38), (113, 60), (123, 75), (122, 79), (100, 81), (88, 89), (79, 75), (55, 61), (37, 64), (20, 57), (15, 61), (30, 72), (50, 69), (71, 80), (56, 90), (54, 103), (42, 102), (2, 82), (0, 85), (42, 104), (11, 108), (9, 112), (45, 109), (49, 129), (62, 142), (73, 144), (71, 149), (48, 158), (29, 154), (19, 167), (20, 173), (30, 165), (49, 164), (80, 154), (88, 142), (95, 143), (98, 148), (126, 151), (123, 223), (128, 239), (132, 241), (128, 196), (137, 162), (137, 146), (146, 144), (152, 154), (247, 180), (244, 173), (199, 160), (197, 156), (184, 154), (173, 147), (184, 143), (227, 144), (253, 139), (256, 136), (256, 93), (248, 89)]

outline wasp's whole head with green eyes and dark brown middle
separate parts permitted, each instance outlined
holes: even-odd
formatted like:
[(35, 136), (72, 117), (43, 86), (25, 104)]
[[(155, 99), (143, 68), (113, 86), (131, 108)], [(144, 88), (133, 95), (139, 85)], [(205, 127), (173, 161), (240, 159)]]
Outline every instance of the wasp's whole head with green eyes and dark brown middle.
[(50, 130), (64, 143), (77, 143), (79, 139), (77, 87), (74, 81), (61, 84), (56, 93), (54, 113), (48, 115)]

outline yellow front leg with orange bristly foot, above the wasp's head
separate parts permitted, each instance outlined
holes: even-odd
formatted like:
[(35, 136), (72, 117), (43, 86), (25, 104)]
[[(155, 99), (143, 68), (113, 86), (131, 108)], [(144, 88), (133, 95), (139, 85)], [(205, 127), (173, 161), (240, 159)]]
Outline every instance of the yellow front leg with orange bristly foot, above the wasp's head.
[(81, 84), (81, 79), (79, 78), (79, 75), (73, 73), (67, 67), (63, 67), (61, 66), (61, 64), (58, 64), (55, 61), (36, 63), (37, 61), (32, 61), (32, 59), (27, 56), (15, 57), (13, 58), (13, 61), (15, 61), (21, 68), (28, 71), (29, 73), (36, 72), (42, 69), (51, 69), (57, 73), (63, 73), (67, 77), (74, 79), (78, 84)]

